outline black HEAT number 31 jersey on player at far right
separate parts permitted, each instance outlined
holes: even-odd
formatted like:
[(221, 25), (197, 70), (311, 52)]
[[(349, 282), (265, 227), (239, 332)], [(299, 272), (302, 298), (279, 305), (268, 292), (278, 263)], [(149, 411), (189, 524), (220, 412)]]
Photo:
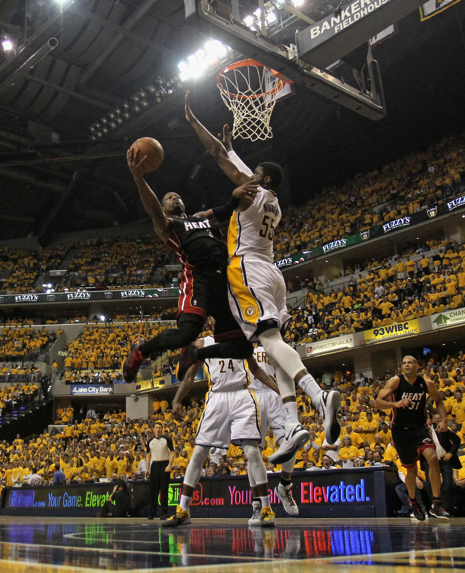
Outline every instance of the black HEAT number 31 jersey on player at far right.
[(398, 426), (415, 427), (426, 423), (427, 384), (421, 376), (417, 376), (413, 384), (409, 384), (403, 374), (399, 375), (400, 382), (397, 390), (391, 395), (393, 402), (403, 398), (412, 401), (405, 408), (392, 409), (392, 423)]

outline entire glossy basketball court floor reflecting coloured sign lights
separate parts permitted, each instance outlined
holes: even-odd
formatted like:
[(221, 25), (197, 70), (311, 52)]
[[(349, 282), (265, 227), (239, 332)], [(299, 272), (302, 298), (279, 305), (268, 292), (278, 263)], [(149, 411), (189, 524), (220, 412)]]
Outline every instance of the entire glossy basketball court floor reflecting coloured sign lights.
[(465, 568), (465, 519), (195, 519), (2, 517), (2, 573), (338, 573)]

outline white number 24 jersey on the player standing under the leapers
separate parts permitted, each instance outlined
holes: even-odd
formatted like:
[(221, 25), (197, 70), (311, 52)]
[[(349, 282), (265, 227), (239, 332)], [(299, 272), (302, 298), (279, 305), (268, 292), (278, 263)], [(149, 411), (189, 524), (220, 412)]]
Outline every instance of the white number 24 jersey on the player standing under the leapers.
[[(204, 346), (212, 344), (214, 344), (213, 336), (206, 336)], [(244, 360), (207, 358), (205, 368), (211, 392), (232, 392), (246, 388), (250, 383), (251, 374)]]

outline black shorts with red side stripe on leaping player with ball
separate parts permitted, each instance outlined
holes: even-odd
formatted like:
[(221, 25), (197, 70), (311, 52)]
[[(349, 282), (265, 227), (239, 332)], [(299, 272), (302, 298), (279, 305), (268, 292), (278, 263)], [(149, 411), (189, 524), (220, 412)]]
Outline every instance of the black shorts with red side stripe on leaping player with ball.
[(205, 321), (208, 316), (213, 316), (216, 321), (215, 339), (221, 339), (226, 332), (242, 335), (229, 308), (226, 268), (213, 271), (185, 268), (179, 288), (178, 316), (185, 312), (201, 316)]

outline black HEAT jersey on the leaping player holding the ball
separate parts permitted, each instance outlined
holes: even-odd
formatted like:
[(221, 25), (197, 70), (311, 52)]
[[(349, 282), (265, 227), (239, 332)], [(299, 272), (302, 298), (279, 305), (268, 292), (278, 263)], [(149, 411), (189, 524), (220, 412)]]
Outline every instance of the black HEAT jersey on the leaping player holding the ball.
[(173, 218), (167, 246), (187, 269), (216, 270), (228, 265), (228, 248), (219, 229), (201, 217)]

